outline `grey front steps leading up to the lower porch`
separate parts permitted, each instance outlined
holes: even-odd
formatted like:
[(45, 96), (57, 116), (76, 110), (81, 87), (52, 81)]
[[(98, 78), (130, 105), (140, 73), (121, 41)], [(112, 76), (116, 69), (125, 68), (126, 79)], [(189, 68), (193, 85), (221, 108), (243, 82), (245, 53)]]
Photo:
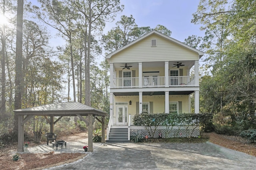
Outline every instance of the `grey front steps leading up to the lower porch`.
[(110, 128), (108, 143), (129, 143), (128, 128)]

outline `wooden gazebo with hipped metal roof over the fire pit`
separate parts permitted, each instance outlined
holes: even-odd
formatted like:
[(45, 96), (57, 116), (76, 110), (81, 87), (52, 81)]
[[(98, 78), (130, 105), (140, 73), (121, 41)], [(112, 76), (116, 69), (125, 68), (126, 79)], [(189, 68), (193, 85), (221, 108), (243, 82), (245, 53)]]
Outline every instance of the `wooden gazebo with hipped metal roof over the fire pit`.
[[(14, 113), (18, 115), (18, 152), (24, 152), (24, 124), (33, 116), (44, 116), (50, 124), (50, 132), (54, 132), (54, 124), (63, 116), (78, 116), (88, 126), (88, 152), (93, 152), (92, 125), (94, 118), (102, 123), (102, 143), (105, 143), (105, 116), (106, 112), (94, 109), (78, 102), (58, 102), (42, 106), (30, 107), (25, 109), (16, 109)], [(26, 117), (24, 118), (24, 115)], [(88, 116), (88, 120), (82, 116)], [(101, 120), (98, 117), (101, 117)], [(50, 117), (50, 119), (48, 119)], [(54, 117), (58, 117), (54, 121)]]

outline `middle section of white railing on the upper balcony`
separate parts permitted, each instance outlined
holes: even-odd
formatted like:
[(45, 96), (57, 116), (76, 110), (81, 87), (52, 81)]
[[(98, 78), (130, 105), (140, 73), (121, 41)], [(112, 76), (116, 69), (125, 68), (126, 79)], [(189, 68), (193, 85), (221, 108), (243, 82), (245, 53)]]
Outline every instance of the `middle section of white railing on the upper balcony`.
[(142, 77), (143, 87), (165, 86), (165, 77)]

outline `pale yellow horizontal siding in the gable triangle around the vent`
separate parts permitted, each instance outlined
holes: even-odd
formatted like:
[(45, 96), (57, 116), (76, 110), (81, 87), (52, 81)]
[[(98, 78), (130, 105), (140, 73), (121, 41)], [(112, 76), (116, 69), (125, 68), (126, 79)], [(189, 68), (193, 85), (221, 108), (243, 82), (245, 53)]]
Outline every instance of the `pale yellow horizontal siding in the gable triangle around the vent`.
[[(156, 47), (151, 47), (151, 39), (157, 39)], [(120, 53), (113, 55), (110, 58), (110, 63), (185, 61), (198, 59), (198, 53), (154, 34), (120, 51)]]

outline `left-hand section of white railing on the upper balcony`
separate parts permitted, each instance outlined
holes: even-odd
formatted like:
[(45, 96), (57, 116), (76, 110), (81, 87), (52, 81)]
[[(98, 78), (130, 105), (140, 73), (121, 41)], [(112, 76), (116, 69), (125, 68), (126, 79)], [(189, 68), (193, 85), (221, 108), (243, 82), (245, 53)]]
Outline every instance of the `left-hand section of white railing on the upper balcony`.
[(139, 78), (138, 77), (130, 77), (130, 78), (113, 78), (113, 84), (117, 88), (124, 87), (138, 87), (139, 86)]

